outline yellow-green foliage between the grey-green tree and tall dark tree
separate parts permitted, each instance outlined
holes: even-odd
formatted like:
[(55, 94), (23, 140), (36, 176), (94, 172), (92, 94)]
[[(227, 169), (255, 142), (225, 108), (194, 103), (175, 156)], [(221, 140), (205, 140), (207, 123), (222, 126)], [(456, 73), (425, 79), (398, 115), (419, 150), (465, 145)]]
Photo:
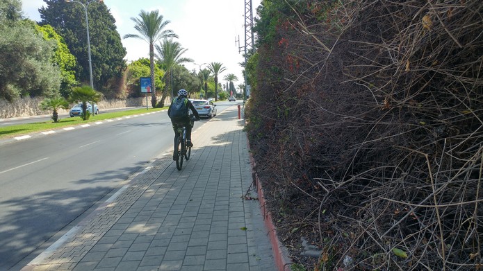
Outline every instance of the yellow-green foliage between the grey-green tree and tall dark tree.
[(60, 68), (62, 82), (60, 84), (60, 94), (68, 97), (74, 85), (77, 84), (75, 76), (76, 58), (72, 55), (65, 44), (63, 37), (56, 33), (56, 30), (50, 25), (38, 26), (35, 29), (42, 33), (44, 40), (52, 40), (56, 42), (56, 49), (52, 56), (52, 62)]

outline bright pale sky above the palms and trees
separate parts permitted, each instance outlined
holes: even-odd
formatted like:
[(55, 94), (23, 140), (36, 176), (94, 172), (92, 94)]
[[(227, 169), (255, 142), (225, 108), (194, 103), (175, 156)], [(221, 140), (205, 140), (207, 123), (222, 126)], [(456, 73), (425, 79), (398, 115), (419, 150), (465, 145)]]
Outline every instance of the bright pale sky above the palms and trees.
[[(47, 4), (42, 0), (21, 1), (24, 16), (40, 21), (38, 9)], [(254, 17), (260, 1), (252, 0)], [(141, 10), (159, 10), (165, 20), (171, 21), (166, 28), (173, 30), (179, 36), (175, 40), (188, 49), (183, 57), (194, 60), (184, 64), (188, 70), (199, 71), (206, 64), (220, 62), (227, 68), (219, 75), (220, 82), (228, 73), (238, 77), (235, 85), (244, 82), (239, 63), (244, 62), (240, 47), (245, 45), (245, 0), (104, 0), (104, 3), (116, 20), (121, 39), (126, 34), (138, 34), (131, 18), (138, 17)], [(128, 62), (149, 58), (149, 44), (144, 40), (122, 39), (122, 44)]]

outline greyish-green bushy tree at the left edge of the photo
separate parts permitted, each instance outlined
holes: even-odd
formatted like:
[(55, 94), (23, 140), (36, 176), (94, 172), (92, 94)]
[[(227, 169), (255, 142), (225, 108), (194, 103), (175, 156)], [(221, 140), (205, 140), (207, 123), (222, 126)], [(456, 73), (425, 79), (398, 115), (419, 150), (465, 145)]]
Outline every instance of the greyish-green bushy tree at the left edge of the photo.
[(0, 2), (0, 97), (51, 96), (58, 93), (60, 70), (52, 62), (55, 44), (22, 18), (16, 0)]

